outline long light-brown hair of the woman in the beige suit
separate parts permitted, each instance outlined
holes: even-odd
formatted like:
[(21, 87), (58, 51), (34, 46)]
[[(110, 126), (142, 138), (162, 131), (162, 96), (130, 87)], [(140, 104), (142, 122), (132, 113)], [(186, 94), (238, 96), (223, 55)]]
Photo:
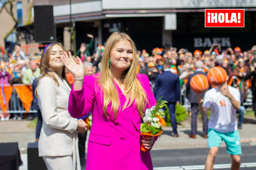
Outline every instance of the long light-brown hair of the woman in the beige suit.
[[(38, 85), (40, 83), (40, 80), (44, 77), (44, 76), (47, 76), (47, 77), (50, 77), (52, 78), (55, 83), (59, 86), (59, 82), (57, 80), (56, 77), (54, 77), (52, 74), (49, 74), (50, 72), (53, 72), (53, 70), (50, 69), (50, 65), (49, 65), (49, 62), (50, 62), (50, 56), (51, 56), (51, 51), (52, 51), (52, 47), (54, 45), (59, 45), (63, 51), (65, 51), (65, 48), (63, 47), (63, 45), (59, 42), (53, 42), (52, 44), (50, 44), (46, 49), (45, 49), (45, 54), (44, 52), (42, 53), (41, 55), (41, 60), (40, 60), (40, 65), (39, 65), (39, 68), (40, 68), (40, 71), (41, 71), (41, 74), (42, 76), (40, 77), (38, 83), (37, 83), (37, 86), (36, 86), (36, 89), (35, 89), (35, 95), (37, 97), (37, 88), (38, 88)], [(67, 81), (67, 78), (66, 78), (66, 74), (65, 74), (65, 66), (63, 66), (62, 68), (62, 72), (61, 72), (61, 77), (63, 79)]]

